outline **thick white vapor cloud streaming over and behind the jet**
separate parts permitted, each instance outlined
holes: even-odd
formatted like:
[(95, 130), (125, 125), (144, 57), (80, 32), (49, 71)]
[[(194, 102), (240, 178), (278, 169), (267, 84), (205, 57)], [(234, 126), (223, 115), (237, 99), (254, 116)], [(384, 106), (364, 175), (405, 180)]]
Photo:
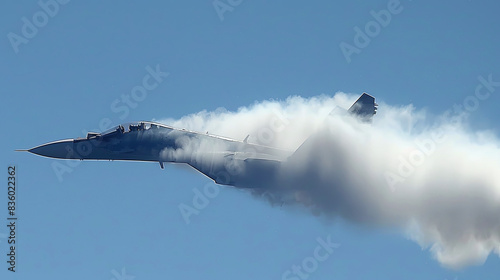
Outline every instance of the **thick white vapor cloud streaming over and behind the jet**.
[(290, 97), (162, 122), (292, 151), (311, 136), (282, 176), (313, 212), (405, 229), (448, 267), (500, 254), (499, 140), (466, 129), (460, 116), (430, 117), (411, 105), (381, 104), (372, 124), (327, 117), (355, 99)]

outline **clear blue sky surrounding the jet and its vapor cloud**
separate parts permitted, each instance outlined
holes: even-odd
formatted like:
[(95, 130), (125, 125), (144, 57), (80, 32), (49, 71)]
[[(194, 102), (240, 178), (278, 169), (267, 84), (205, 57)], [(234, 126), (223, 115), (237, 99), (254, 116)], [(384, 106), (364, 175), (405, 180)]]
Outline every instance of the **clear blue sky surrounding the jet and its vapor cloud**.
[[(437, 114), (473, 94), (479, 75), (500, 80), (497, 1), (224, 5), (222, 14), (212, 1), (69, 1), (49, 12), (37, 1), (2, 5), (0, 278), (282, 279), (330, 236), (340, 246), (308, 279), (498, 279), (497, 255), (452, 271), (401, 234), (327, 223), (225, 187), (187, 225), (179, 205), (192, 205), (210, 181), (186, 168), (83, 162), (59, 180), (54, 160), (14, 152), (82, 136), (103, 119), (179, 118), (289, 95), (367, 91)], [(348, 62), (340, 44), (356, 47), (354, 28), (383, 9), (394, 12), (390, 22)], [(157, 65), (169, 76), (126, 105), (121, 96)], [(498, 135), (497, 93), (471, 120)], [(18, 170), (16, 273), (5, 262), (10, 164)]]

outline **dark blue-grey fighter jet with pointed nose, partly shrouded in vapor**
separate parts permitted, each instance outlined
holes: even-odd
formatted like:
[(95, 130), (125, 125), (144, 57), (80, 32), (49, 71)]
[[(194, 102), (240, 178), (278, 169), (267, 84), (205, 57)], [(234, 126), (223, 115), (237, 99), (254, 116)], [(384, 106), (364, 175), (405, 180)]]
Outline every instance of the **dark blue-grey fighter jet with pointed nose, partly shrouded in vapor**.
[[(363, 93), (347, 112), (370, 122), (377, 106), (374, 97)], [(307, 140), (297, 151), (287, 151), (248, 143), (248, 136), (239, 141), (141, 121), (121, 124), (101, 133), (89, 132), (85, 138), (54, 141), (22, 151), (69, 160), (158, 162), (162, 169), (164, 163), (182, 163), (217, 184), (265, 188), (276, 184), (273, 180), (281, 165), (292, 160), (306, 144)]]

